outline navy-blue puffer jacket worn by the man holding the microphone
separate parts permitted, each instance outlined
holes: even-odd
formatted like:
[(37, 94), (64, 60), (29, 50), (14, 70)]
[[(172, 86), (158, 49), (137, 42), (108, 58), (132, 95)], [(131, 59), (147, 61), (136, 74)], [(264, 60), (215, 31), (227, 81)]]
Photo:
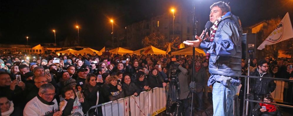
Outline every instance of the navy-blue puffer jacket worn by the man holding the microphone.
[(242, 28), (238, 17), (231, 12), (219, 20), (214, 41), (202, 41), (200, 48), (211, 53), (208, 86), (220, 82), (223, 85), (238, 86), (241, 75), (241, 35)]

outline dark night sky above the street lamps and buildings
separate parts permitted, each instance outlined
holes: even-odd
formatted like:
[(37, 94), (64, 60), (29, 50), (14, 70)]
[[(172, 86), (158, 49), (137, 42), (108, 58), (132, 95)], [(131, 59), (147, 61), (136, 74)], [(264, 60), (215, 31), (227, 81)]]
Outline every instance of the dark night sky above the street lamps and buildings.
[[(26, 44), (29, 42), (54, 43), (66, 37), (77, 37), (79, 25), (83, 46), (104, 46), (111, 39), (114, 28), (170, 12), (171, 0), (1, 0), (0, 43)], [(208, 21), (209, 6), (218, 0), (175, 0), (184, 6), (196, 2), (199, 28)], [(232, 13), (239, 16), (242, 26), (280, 17), (289, 12), (293, 19), (293, 0), (226, 0)], [(172, 6), (177, 6), (176, 4)], [(58, 42), (57, 42), (58, 43)]]

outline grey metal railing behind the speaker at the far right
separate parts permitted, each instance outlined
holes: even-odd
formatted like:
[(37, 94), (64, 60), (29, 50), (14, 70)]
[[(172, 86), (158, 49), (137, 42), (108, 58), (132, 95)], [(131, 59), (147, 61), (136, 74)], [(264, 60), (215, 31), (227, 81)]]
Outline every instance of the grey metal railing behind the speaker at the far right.
[[(245, 108), (245, 105), (246, 105), (247, 102), (266, 103), (266, 104), (272, 104), (272, 105), (277, 105), (277, 106), (282, 106), (282, 107), (287, 107), (287, 108), (293, 108), (293, 105), (284, 105), (284, 104), (278, 104), (278, 103), (267, 103), (267, 102), (255, 101), (255, 100), (247, 99), (249, 97), (248, 94), (247, 94), (247, 79), (249, 79), (249, 78), (257, 78), (257, 79), (260, 79), (261, 78), (261, 79), (277, 80), (275, 82), (278, 82), (278, 80), (280, 80), (280, 81), (286, 81), (286, 82), (293, 82), (293, 80), (290, 80), (290, 79), (281, 79), (281, 78), (270, 78), (270, 77), (244, 76), (244, 75), (242, 75), (241, 77), (245, 77), (244, 95), (243, 95), (243, 99), (244, 99), (243, 102), (244, 103), (243, 103), (243, 114), (242, 114), (243, 116), (249, 115), (249, 114), (247, 114), (248, 108), (247, 107)], [(283, 82), (281, 82), (281, 83), (283, 83)], [(277, 88), (277, 86), (276, 86), (276, 88)], [(281, 89), (278, 89), (278, 90), (275, 89), (275, 92), (276, 91), (281, 91), (281, 94), (282, 94), (281, 96), (283, 96), (282, 91), (284, 91), (284, 88), (281, 87)], [(274, 96), (276, 97), (276, 94)], [(279, 97), (281, 97), (281, 96), (279, 96)], [(246, 110), (246, 112), (245, 112), (245, 110)], [(250, 109), (250, 110), (252, 110), (252, 109)]]

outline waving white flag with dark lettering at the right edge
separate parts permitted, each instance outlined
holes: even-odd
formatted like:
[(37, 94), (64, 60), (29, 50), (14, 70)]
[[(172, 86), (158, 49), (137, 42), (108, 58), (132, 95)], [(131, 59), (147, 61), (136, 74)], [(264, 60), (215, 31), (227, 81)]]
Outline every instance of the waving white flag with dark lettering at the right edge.
[(290, 21), (289, 13), (287, 12), (275, 30), (265, 39), (257, 49), (262, 50), (266, 45), (272, 45), (281, 41), (293, 38), (293, 29)]

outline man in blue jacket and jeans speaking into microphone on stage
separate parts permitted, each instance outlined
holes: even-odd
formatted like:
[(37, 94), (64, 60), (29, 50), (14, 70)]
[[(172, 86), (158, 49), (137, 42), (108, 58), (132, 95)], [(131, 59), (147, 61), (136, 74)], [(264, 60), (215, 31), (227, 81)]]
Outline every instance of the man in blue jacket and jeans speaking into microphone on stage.
[(233, 98), (241, 75), (241, 23), (223, 1), (210, 8), (213, 24), (210, 36), (203, 31), (200, 37), (195, 36), (197, 40), (183, 43), (203, 49), (209, 59), (208, 86), (213, 85), (213, 115), (233, 116)]

